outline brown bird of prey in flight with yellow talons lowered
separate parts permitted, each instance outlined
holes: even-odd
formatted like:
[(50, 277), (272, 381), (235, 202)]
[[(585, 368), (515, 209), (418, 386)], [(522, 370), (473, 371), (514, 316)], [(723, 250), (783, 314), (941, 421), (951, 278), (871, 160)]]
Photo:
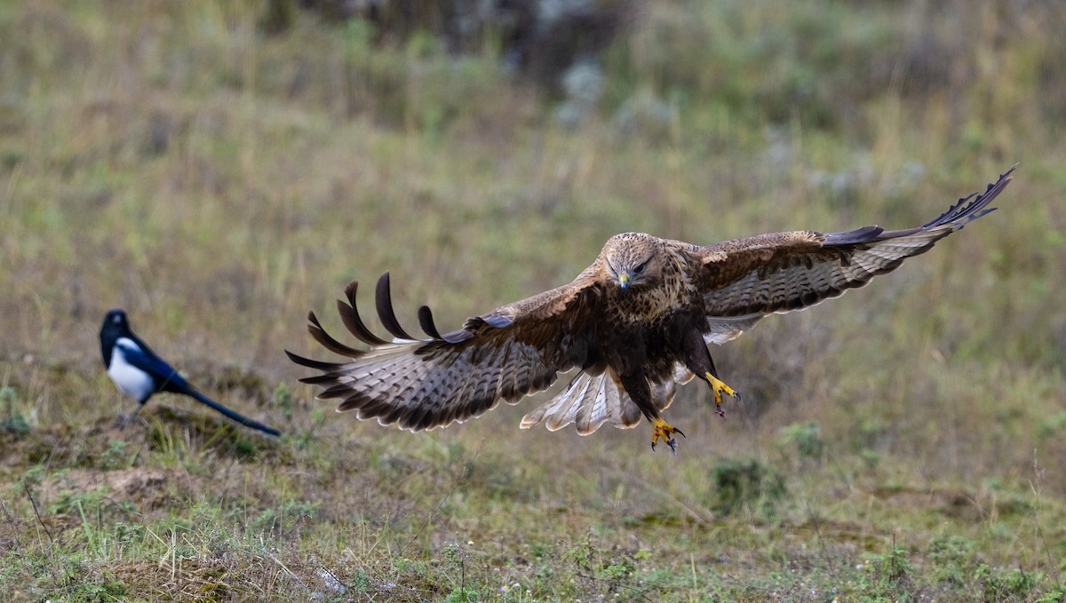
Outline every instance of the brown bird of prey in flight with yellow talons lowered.
[[(574, 282), (467, 319), (440, 335), (425, 306), (418, 339), (397, 321), (389, 275), (377, 281), (382, 324), (394, 337), (370, 332), (356, 311), (358, 282), (338, 302), (344, 325), (369, 348), (340, 343), (308, 315), (311, 336), (344, 362), (321, 362), (286, 352), (321, 375), (320, 398), (340, 398), (338, 411), (376, 418), (418, 431), (463, 422), (547, 389), (560, 373), (577, 376), (524, 418), (554, 431), (575, 423), (587, 435), (603, 423), (651, 422), (651, 447), (661, 438), (676, 450), (681, 431), (662, 419), (677, 385), (707, 381), (720, 414), (722, 396), (740, 397), (722, 382), (708, 344), (724, 343), (763, 316), (802, 310), (891, 272), (905, 258), (992, 211), (985, 209), (1011, 181), (1012, 167), (983, 195), (959, 199), (919, 228), (867, 226), (823, 234), (810, 230), (761, 234), (701, 247), (650, 234), (616, 234)], [(683, 435), (683, 434), (682, 434)]]

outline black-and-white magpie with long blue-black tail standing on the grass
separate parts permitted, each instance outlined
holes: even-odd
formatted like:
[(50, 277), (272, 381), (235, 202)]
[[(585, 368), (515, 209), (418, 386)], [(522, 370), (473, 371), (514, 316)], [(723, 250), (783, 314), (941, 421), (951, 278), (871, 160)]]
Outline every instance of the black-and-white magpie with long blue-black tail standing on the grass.
[(196, 391), (177, 371), (156, 356), (141, 338), (133, 335), (126, 312), (123, 310), (111, 310), (103, 316), (103, 326), (100, 327), (100, 352), (103, 353), (103, 365), (108, 369), (111, 380), (120, 392), (136, 398), (140, 403), (136, 410), (119, 421), (122, 427), (144, 408), (149, 397), (159, 392), (174, 392), (206, 404), (241, 425), (271, 436), (280, 435), (277, 429), (238, 414)]

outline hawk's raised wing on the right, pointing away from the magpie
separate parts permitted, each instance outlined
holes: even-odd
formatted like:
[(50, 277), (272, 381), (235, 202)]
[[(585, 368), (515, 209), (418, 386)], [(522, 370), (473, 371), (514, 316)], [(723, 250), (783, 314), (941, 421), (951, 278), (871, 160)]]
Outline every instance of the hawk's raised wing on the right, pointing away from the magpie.
[(1014, 167), (984, 194), (959, 199), (940, 217), (918, 228), (867, 226), (823, 234), (809, 230), (761, 234), (699, 249), (700, 287), (711, 335), (723, 343), (773, 312), (802, 310), (891, 272), (911, 256), (985, 215), (1011, 181)]

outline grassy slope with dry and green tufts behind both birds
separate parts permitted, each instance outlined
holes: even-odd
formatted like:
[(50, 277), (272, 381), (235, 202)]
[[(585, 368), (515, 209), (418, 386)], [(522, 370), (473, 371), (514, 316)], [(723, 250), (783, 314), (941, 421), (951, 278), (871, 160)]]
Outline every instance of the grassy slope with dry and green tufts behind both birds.
[[(663, 3), (564, 128), (491, 58), (254, 3), (0, 6), (0, 591), (17, 598), (1035, 600), (1066, 567), (1066, 23), (1054, 3)], [(716, 354), (646, 429), (410, 435), (282, 347), (389, 270), (454, 325), (602, 241), (983, 218)], [(111, 427), (111, 307), (191, 380)], [(124, 410), (130, 403), (123, 401)], [(591, 469), (593, 468), (593, 469)], [(519, 589), (512, 585), (520, 585)], [(506, 587), (506, 588), (504, 588)], [(1057, 594), (1056, 594), (1057, 593)]]

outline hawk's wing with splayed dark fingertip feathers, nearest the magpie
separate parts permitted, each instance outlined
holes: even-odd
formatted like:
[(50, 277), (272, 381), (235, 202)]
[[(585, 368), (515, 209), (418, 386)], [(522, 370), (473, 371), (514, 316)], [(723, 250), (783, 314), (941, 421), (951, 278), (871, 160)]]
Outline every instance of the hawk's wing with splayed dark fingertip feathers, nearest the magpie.
[(440, 335), (430, 309), (418, 317), (426, 339), (416, 339), (397, 321), (389, 275), (377, 281), (377, 314), (391, 341), (364, 325), (356, 310), (358, 282), (345, 290), (349, 303), (337, 306), (344, 325), (369, 348), (340, 343), (308, 315), (311, 336), (346, 362), (320, 362), (296, 356), (294, 362), (321, 375), (301, 379), (325, 388), (320, 398), (339, 398), (338, 411), (356, 410), (359, 419), (398, 423), (418, 431), (478, 417), (500, 400), (514, 404), (550, 387), (560, 372), (582, 366), (596, 319), (598, 289), (585, 271), (574, 282), (468, 319), (459, 330)]

